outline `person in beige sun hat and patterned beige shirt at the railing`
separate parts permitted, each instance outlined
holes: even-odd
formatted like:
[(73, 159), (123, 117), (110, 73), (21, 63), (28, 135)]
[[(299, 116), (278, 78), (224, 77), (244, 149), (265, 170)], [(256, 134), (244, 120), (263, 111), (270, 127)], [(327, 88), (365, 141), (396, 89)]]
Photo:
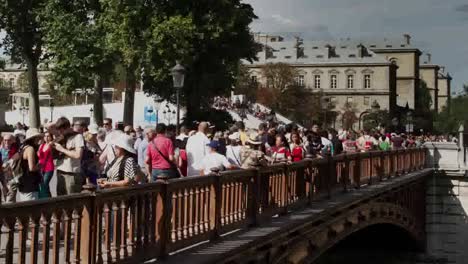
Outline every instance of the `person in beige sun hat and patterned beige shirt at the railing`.
[(251, 169), (256, 165), (266, 165), (267, 160), (265, 153), (261, 151), (262, 139), (256, 133), (249, 135), (246, 145), (242, 147), (240, 152), (240, 163), (242, 169)]

